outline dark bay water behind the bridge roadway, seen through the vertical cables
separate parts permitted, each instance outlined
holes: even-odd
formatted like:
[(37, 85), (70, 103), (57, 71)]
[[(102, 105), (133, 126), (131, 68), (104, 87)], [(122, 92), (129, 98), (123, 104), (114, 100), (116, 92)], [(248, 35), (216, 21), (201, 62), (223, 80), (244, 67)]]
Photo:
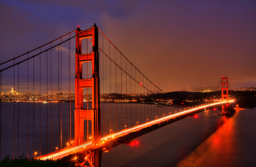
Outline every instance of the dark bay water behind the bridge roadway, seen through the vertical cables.
[[(61, 148), (61, 115), (62, 115), (62, 146), (66, 147), (69, 142), (69, 103), (1, 103), (2, 107), (2, 142), (1, 157), (10, 155), (34, 156), (34, 151), (40, 151), (41, 155)], [(84, 103), (84, 108), (87, 103)], [(88, 108), (92, 103), (88, 104)], [(122, 108), (122, 110), (121, 110)], [(101, 135), (109, 135), (110, 132), (120, 131), (124, 128), (136, 126), (137, 122), (143, 123), (162, 117), (164, 114), (179, 112), (179, 107), (156, 107), (156, 105), (145, 105), (136, 103), (101, 103)], [(184, 108), (182, 108), (184, 109)], [(74, 110), (75, 104), (71, 103), (72, 111), (72, 137), (74, 139)], [(40, 114), (41, 113), (41, 114)], [(117, 114), (117, 116), (116, 116)], [(40, 120), (41, 115), (41, 120)], [(47, 119), (48, 118), (48, 119)], [(132, 119), (131, 119), (132, 118)], [(116, 121), (117, 120), (117, 121)], [(41, 123), (40, 123), (41, 122)], [(19, 124), (19, 126), (18, 126)], [(41, 124), (41, 128), (40, 128)], [(48, 125), (48, 126), (47, 126)], [(90, 121), (89, 121), (90, 127)], [(87, 122), (85, 126), (85, 140), (87, 139)], [(48, 128), (48, 131), (47, 131)], [(51, 133), (52, 131), (52, 133)], [(18, 134), (19, 132), (19, 134)], [(27, 141), (28, 132), (28, 141)], [(41, 133), (41, 135), (40, 135)], [(88, 132), (90, 136), (91, 131)], [(47, 136), (48, 134), (48, 136)], [(15, 139), (13, 136), (15, 135)], [(19, 135), (19, 141), (18, 141)], [(40, 137), (41, 136), (41, 137)], [(51, 137), (52, 136), (52, 137)], [(19, 144), (18, 144), (19, 143)], [(19, 149), (18, 149), (19, 147)], [(19, 150), (19, 154), (18, 154)], [(40, 153), (39, 153), (40, 154)], [(38, 156), (39, 156), (38, 154)]]

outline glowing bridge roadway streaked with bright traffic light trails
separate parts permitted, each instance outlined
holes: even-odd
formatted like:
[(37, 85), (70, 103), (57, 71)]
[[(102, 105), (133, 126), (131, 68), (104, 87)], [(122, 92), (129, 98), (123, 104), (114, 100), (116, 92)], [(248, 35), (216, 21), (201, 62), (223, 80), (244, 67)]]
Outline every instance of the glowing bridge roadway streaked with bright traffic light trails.
[[(234, 101), (229, 101), (229, 102), (234, 102)], [(136, 132), (138, 130), (141, 130), (142, 128), (149, 127), (149, 126), (152, 126), (154, 124), (158, 124), (160, 122), (164, 122), (164, 121), (169, 120), (169, 119), (174, 119), (176, 117), (186, 115), (188, 113), (192, 114), (193, 112), (201, 110), (203, 108), (213, 107), (213, 106), (220, 106), (220, 105), (223, 105), (224, 103), (227, 103), (227, 102), (211, 103), (209, 105), (204, 105), (204, 106), (192, 108), (192, 109), (189, 109), (189, 110), (178, 112), (176, 114), (164, 116), (163, 118), (151, 120), (150, 122), (139, 124), (138, 126), (127, 128), (125, 130), (112, 133), (111, 135), (104, 136), (104, 137), (101, 138), (101, 141), (102, 141), (102, 143), (103, 143), (103, 141), (104, 141), (104, 143), (108, 143), (108, 141), (112, 141), (113, 138), (118, 138), (118, 137), (125, 136), (130, 132)], [(81, 144), (79, 146), (73, 146), (73, 147), (71, 146), (71, 147), (68, 147), (68, 148), (63, 148), (63, 149), (60, 149), (59, 151), (48, 153), (47, 155), (43, 155), (43, 156), (36, 157), (36, 158), (40, 158), (41, 160), (46, 160), (48, 158), (53, 158), (53, 159), (62, 158), (62, 157), (68, 156), (68, 155), (76, 153), (76, 152), (82, 152), (82, 151), (85, 151), (86, 149), (91, 149), (92, 146), (93, 146), (92, 141), (89, 141), (88, 143), (84, 143), (84, 144)], [(101, 147), (101, 146), (99, 146), (99, 147)]]

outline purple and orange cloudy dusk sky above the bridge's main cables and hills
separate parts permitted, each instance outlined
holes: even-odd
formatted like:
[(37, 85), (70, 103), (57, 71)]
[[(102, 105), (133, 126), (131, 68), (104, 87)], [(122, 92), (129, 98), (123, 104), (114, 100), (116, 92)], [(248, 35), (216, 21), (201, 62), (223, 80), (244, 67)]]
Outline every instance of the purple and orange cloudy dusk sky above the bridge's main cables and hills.
[(163, 91), (256, 87), (256, 1), (0, 0), (0, 62), (94, 23)]

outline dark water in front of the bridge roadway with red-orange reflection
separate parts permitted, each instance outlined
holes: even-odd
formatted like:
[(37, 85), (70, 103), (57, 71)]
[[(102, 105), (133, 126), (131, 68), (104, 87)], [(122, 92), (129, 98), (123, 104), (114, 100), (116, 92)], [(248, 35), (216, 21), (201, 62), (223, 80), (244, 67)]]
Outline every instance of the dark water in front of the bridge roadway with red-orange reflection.
[(256, 109), (233, 117), (207, 110), (102, 154), (104, 166), (256, 166)]

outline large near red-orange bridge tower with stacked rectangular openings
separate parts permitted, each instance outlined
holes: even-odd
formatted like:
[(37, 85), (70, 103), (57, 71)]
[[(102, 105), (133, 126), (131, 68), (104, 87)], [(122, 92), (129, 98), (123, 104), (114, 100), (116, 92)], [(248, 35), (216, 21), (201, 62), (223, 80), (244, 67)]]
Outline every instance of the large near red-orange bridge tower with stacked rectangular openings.
[[(92, 53), (82, 54), (81, 40), (92, 37)], [(93, 166), (101, 164), (101, 150), (97, 149), (101, 141), (101, 111), (100, 111), (100, 77), (98, 55), (98, 27), (96, 24), (86, 31), (76, 30), (76, 78), (75, 78), (75, 145), (84, 143), (84, 120), (92, 122), (92, 144), (94, 155), (88, 162)], [(92, 78), (82, 78), (82, 63), (92, 61)], [(84, 88), (92, 89), (92, 110), (83, 106)]]

